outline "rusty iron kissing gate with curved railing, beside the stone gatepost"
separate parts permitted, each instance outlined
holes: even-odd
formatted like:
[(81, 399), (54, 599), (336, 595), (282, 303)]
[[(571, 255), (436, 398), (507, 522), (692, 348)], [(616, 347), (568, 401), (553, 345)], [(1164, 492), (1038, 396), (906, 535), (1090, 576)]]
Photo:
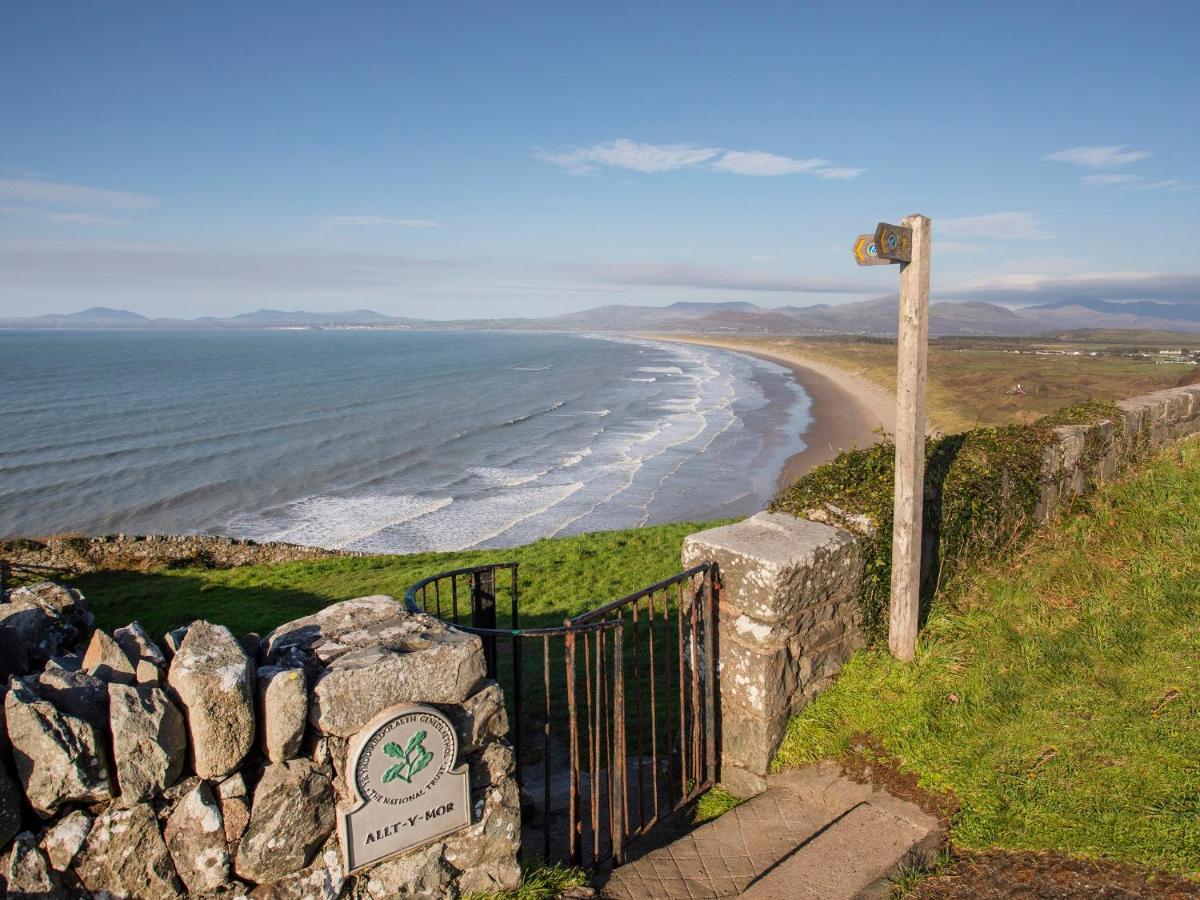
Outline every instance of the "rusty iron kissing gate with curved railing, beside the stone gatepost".
[[(502, 583), (497, 575), (509, 572), (509, 624), (499, 628), (497, 607)], [(460, 623), (458, 580), (463, 578), (470, 587), (470, 622)], [(500, 637), (511, 643), (511, 666), (506, 676), (511, 676), (511, 689), (506, 690), (512, 710), (512, 739), (515, 764), (518, 782), (524, 796), (533, 787), (526, 787), (524, 770), (524, 672), (523, 638), (541, 641), (544, 691), (542, 706), (545, 721), (541, 724), (541, 802), (542, 802), (542, 858), (550, 862), (554, 852), (551, 834), (553, 814), (551, 745), (554, 721), (558, 718), (556, 707), (562, 713), (563, 704), (554, 700), (554, 661), (551, 654), (552, 638), (563, 638), (563, 661), (565, 678), (566, 738), (569, 744), (569, 794), (566, 812), (569, 816), (565, 858), (575, 865), (587, 864), (598, 869), (611, 860), (614, 865), (625, 859), (629, 842), (649, 832), (656, 823), (715, 784), (716, 780), (716, 722), (715, 722), (715, 664), (714, 664), (714, 607), (718, 599), (719, 583), (716, 566), (702, 564), (664, 578), (642, 590), (618, 600), (606, 602), (594, 610), (568, 618), (560, 626), (521, 628), (518, 572), (516, 563), (496, 563), (466, 566), (439, 572), (413, 584), (404, 595), (406, 605), (414, 612), (436, 612), (443, 617), (442, 582), (450, 582), (450, 613), (452, 620), (448, 624), (467, 634), (479, 636), (485, 647), (487, 676), (500, 677), (497, 642)], [(433, 586), (432, 610), (428, 587)], [(672, 599), (672, 588), (673, 599)], [(658, 604), (661, 595), (662, 607), (659, 614)], [(672, 616), (671, 605), (676, 605)], [(644, 616), (642, 604), (646, 604)], [(625, 619), (629, 608), (630, 619)], [(686, 610), (684, 608), (686, 607)], [(674, 628), (676, 640), (670, 640), (670, 630)], [(660, 642), (655, 630), (665, 632), (666, 642)], [(686, 632), (686, 634), (685, 634)], [(612, 640), (611, 648), (608, 641)], [(583, 641), (582, 659), (578, 653), (578, 641)], [(626, 649), (625, 642), (630, 646)], [(642, 648), (646, 642), (643, 662)], [(666, 668), (660, 667), (659, 653), (667, 655)], [(670, 656), (676, 654), (672, 664)], [(582, 662), (583, 684), (580, 684)], [(628, 666), (628, 671), (626, 671)], [(649, 684), (644, 676), (648, 674)], [(630, 704), (626, 697), (626, 677), (637, 685), (635, 702)], [(665, 678), (665, 688), (673, 689), (678, 695), (678, 722), (671, 712), (660, 720), (658, 679)], [(674, 684), (672, 685), (672, 682)], [(582, 708), (580, 692), (582, 688)], [(648, 707), (642, 694), (648, 690)], [(668, 702), (666, 710), (672, 709)], [(581, 722), (582, 715), (582, 722)], [(632, 716), (632, 722), (630, 722)], [(644, 716), (644, 718), (643, 718)], [(637, 761), (636, 787), (631, 785), (629, 773), (630, 724), (634, 728), (632, 744)], [(582, 731), (581, 731), (582, 725)], [(643, 728), (649, 730), (649, 766), (650, 776), (646, 778), (647, 739)], [(659, 731), (667, 738), (666, 745), (659, 740)], [(587, 746), (583, 742), (587, 740)], [(664, 756), (665, 751), (665, 756)], [(660, 761), (666, 767), (667, 780), (659, 778)], [(588, 792), (583, 793), (583, 766), (590, 770)], [(678, 773), (678, 780), (674, 774)], [(646, 794), (646, 782), (649, 781), (650, 796)], [(630, 809), (631, 788), (636, 790), (637, 811), (636, 826), (632, 823), (634, 811)], [(678, 788), (678, 790), (676, 790)], [(665, 796), (661, 794), (666, 791)], [(666, 802), (664, 806), (662, 803)], [(608, 804), (602, 810), (604, 803)], [(583, 840), (587, 828), (592, 829), (590, 846), (584, 859)], [(607, 830), (607, 835), (605, 834)], [(533, 845), (527, 845), (533, 846)]]

